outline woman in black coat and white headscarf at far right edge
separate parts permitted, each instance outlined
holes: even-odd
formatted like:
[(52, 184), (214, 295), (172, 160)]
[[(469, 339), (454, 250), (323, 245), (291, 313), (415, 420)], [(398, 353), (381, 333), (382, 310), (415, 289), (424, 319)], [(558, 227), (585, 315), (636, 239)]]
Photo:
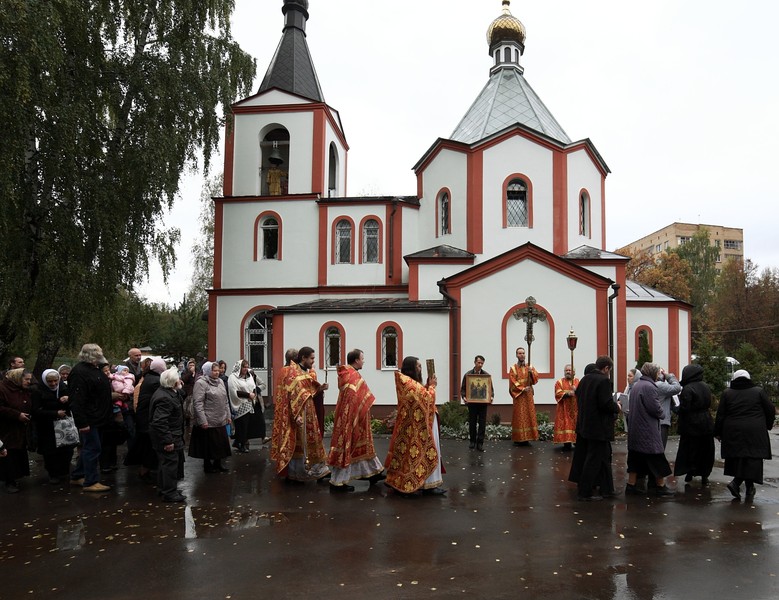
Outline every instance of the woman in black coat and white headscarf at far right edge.
[(728, 491), (734, 498), (741, 499), (742, 483), (746, 483), (747, 500), (755, 497), (755, 484), (763, 484), (763, 460), (771, 459), (768, 431), (775, 417), (774, 405), (763, 388), (752, 382), (747, 371), (736, 371), (730, 388), (722, 393), (714, 420), (725, 475), (733, 477)]

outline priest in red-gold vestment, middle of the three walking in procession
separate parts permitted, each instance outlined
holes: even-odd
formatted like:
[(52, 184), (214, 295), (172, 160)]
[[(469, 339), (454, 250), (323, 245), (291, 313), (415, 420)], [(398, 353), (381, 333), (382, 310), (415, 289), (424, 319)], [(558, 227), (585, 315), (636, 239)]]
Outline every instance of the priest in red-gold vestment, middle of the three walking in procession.
[(338, 403), (327, 459), (331, 492), (353, 491), (352, 479), (367, 479), (371, 484), (384, 479), (384, 465), (376, 456), (371, 432), (371, 406), (376, 398), (360, 375), (365, 354), (352, 350), (346, 360), (348, 365), (338, 367)]

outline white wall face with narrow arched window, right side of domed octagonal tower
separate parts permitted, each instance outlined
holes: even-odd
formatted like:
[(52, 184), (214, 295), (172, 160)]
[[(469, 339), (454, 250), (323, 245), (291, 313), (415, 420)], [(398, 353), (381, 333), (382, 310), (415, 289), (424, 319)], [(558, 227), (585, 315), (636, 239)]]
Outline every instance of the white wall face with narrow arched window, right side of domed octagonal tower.
[[(579, 192), (587, 190), (590, 196), (590, 235), (579, 235)], [(584, 150), (568, 155), (568, 247), (583, 244), (603, 248), (601, 210), (601, 174)]]

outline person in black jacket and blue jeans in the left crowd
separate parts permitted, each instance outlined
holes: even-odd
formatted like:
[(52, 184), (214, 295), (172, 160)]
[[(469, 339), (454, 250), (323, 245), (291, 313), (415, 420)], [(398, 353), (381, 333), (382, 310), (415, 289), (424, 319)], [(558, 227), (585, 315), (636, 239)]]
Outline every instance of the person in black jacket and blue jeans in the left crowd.
[(100, 483), (100, 428), (112, 418), (111, 380), (98, 368), (105, 363), (103, 350), (97, 344), (84, 344), (79, 363), (68, 378), (70, 408), (81, 436), (81, 452), (70, 483), (83, 485), (85, 492), (107, 492), (111, 488)]

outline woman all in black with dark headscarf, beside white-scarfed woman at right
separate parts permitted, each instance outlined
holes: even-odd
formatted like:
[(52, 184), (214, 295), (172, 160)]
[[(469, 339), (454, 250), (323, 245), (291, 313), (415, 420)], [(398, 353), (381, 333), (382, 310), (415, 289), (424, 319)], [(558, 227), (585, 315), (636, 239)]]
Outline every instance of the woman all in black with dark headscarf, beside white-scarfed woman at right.
[(711, 418), (711, 388), (703, 381), (703, 367), (687, 365), (682, 370), (679, 394), (679, 450), (674, 475), (684, 475), (685, 483), (701, 478), (709, 483), (714, 466), (714, 419)]

